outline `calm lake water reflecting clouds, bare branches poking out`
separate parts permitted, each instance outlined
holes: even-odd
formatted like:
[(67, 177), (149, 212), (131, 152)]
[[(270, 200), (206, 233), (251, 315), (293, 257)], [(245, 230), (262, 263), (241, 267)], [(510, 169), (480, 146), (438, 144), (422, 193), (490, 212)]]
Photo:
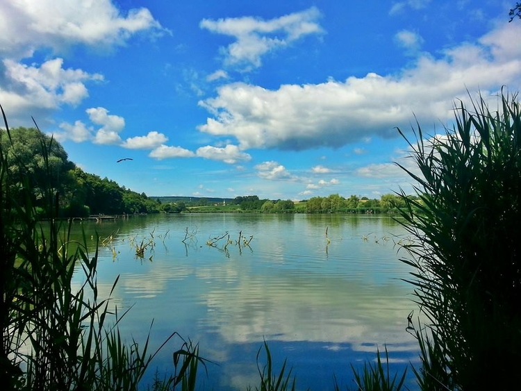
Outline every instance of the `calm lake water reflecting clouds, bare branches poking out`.
[[(405, 331), (417, 313), (402, 281), (411, 269), (396, 245), (406, 233), (391, 217), (181, 214), (74, 223), (82, 226), (89, 240), (94, 230), (104, 240), (100, 294), (120, 276), (112, 297), (118, 313), (132, 307), (121, 324), (127, 341), (150, 331), (156, 348), (176, 331), (199, 343), (212, 362), (201, 390), (258, 386), (264, 340), (276, 369), (288, 360), (299, 390), (332, 390), (333, 374), (342, 389), (354, 388), (351, 365), (374, 360), (377, 348), (387, 347), (392, 371), (419, 362)], [(180, 346), (167, 344), (153, 369), (171, 369)]]

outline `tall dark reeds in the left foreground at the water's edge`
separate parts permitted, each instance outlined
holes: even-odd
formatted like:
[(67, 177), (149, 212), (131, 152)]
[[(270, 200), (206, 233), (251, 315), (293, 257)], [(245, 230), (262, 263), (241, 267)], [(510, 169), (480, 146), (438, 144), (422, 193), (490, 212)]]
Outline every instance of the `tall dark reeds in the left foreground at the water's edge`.
[[(10, 132), (2, 111), (6, 131)], [(38, 126), (37, 126), (38, 127)], [(51, 139), (50, 143), (53, 140)], [(44, 165), (49, 172), (51, 144), (41, 142)], [(28, 170), (12, 178), (8, 167), (21, 164), (16, 153), (0, 145), (0, 383), (10, 390), (137, 390), (159, 349), (151, 352), (149, 339), (128, 343), (119, 333), (126, 314), (110, 305), (117, 279), (108, 297), (97, 287), (98, 244), (94, 253), (83, 240), (72, 243), (71, 223), (58, 222), (58, 194), (45, 187), (38, 197), (47, 201), (49, 226), (43, 228), (35, 215), (31, 191), (22, 199), (12, 197), (13, 183), (29, 185)], [(65, 235), (61, 235), (65, 230)], [(83, 283), (73, 288), (74, 273)], [(183, 342), (174, 352), (173, 374), (156, 386), (172, 390), (195, 389), (199, 357), (197, 345)]]

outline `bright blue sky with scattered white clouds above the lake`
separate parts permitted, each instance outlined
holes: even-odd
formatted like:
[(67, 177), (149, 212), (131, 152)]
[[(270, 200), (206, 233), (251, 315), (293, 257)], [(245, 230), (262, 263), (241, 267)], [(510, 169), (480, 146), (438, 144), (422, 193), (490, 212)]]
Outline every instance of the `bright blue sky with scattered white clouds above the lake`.
[(520, 90), (514, 5), (0, 0), (0, 103), (149, 196), (411, 192), (396, 127)]

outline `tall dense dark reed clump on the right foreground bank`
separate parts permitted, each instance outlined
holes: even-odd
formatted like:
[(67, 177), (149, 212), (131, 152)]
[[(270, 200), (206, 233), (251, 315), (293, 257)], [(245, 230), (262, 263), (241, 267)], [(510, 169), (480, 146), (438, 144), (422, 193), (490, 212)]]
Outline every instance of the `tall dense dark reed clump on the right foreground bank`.
[(521, 381), (521, 106), (502, 94), (496, 112), (481, 97), (455, 109), (429, 142), (417, 126), (419, 173), (402, 167), (418, 196), (401, 194), (417, 239), (403, 261), (428, 322), (417, 374), (427, 389), (505, 390)]

